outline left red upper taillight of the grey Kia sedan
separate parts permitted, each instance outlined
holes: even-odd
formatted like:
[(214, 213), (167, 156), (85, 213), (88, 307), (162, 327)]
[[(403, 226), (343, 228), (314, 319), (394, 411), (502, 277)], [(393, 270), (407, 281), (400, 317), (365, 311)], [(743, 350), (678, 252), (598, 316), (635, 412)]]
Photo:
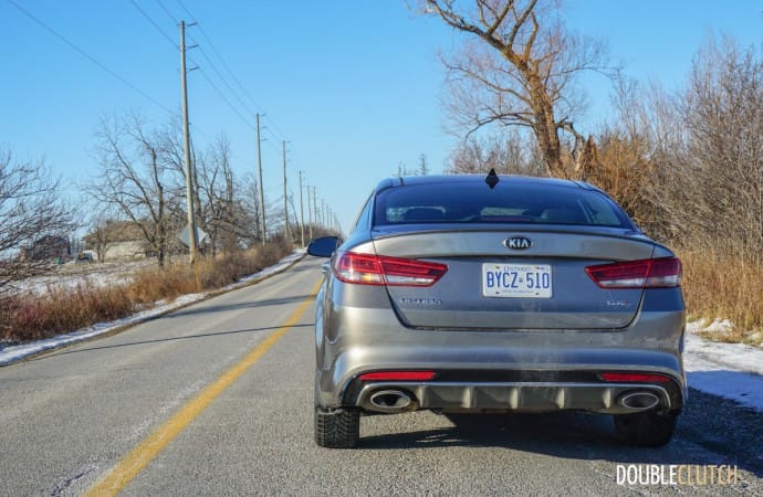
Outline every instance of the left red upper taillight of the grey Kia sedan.
[(334, 264), (339, 281), (362, 285), (431, 286), (448, 271), (445, 264), (345, 252)]

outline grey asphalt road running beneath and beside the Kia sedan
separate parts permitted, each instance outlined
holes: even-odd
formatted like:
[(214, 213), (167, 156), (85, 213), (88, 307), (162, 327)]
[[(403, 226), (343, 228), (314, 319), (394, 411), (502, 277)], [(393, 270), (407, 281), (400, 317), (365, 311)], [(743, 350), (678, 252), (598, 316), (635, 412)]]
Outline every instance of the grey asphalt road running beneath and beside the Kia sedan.
[[(618, 445), (605, 416), (428, 412), (364, 417), (360, 448), (318, 448), (321, 263), (0, 368), (0, 495), (100, 494), (117, 475), (135, 496), (763, 496), (762, 416), (696, 391), (661, 450)], [(618, 465), (732, 465), (738, 479), (619, 485)]]

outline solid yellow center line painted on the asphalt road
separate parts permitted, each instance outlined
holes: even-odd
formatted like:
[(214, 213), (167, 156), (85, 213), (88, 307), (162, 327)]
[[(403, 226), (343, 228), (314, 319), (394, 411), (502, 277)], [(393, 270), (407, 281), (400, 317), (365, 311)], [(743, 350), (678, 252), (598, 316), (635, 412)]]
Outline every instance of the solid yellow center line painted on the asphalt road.
[[(311, 297), (317, 294), (318, 282)], [(268, 338), (261, 341), (247, 357), (226, 371), (212, 384), (207, 387), (194, 400), (185, 404), (173, 417), (159, 426), (137, 447), (133, 448), (116, 466), (100, 482), (93, 485), (85, 496), (113, 496), (127, 486), (159, 453), (180, 434), (207, 406), (215, 401), (228, 387), (238, 380), (249, 368), (254, 364), (273, 345), (275, 345), (286, 331), (289, 331), (313, 303), (312, 298), (305, 299), (291, 315), (289, 320)]]

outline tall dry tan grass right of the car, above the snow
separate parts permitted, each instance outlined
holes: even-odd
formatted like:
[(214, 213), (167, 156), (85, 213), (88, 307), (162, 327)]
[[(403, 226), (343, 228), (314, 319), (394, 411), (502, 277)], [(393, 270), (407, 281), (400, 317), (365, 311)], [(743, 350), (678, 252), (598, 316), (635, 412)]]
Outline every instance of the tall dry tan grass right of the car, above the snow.
[(689, 317), (729, 319), (733, 330), (710, 338), (762, 345), (763, 267), (753, 261), (713, 251), (684, 251), (683, 293)]

